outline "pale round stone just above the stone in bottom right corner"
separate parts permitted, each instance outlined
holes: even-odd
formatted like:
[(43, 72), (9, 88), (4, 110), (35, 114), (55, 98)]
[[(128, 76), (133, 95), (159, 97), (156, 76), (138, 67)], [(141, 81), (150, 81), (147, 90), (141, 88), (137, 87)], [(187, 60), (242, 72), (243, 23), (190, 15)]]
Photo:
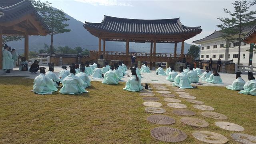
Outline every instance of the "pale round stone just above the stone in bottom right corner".
[(223, 128), (224, 130), (230, 130), (230, 131), (244, 131), (244, 128), (242, 126), (239, 126), (238, 124), (234, 124), (231, 122), (215, 122), (215, 125)]

